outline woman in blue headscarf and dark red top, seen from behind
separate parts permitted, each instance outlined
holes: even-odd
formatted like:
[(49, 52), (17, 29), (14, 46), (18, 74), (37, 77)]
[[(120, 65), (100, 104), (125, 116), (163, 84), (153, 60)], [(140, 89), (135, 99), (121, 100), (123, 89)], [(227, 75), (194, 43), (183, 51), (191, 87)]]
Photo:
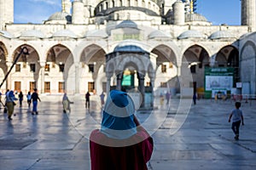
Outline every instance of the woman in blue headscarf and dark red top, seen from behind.
[(112, 90), (102, 111), (102, 127), (90, 133), (91, 170), (147, 170), (154, 141), (138, 122), (125, 92)]

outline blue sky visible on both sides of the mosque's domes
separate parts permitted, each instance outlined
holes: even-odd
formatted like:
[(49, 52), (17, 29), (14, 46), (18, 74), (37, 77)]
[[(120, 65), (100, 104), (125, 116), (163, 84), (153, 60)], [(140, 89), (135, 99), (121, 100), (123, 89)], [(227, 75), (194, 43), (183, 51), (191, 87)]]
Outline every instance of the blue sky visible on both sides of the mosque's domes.
[[(61, 0), (15, 0), (15, 23), (43, 23), (61, 11)], [(197, 13), (212, 25), (240, 25), (240, 0), (197, 0)]]

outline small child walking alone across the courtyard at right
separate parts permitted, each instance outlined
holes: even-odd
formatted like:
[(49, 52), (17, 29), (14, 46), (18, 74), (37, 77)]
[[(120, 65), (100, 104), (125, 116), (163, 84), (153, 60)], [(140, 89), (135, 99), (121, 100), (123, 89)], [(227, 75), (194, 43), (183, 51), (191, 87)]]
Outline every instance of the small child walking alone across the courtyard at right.
[(230, 122), (231, 117), (232, 117), (232, 127), (231, 128), (232, 128), (233, 132), (236, 134), (235, 139), (238, 140), (239, 139), (239, 127), (240, 127), (240, 124), (244, 125), (244, 123), (243, 123), (242, 112), (239, 109), (241, 107), (241, 103), (240, 102), (236, 102), (235, 106), (236, 106), (236, 109), (234, 109), (230, 113), (229, 122)]

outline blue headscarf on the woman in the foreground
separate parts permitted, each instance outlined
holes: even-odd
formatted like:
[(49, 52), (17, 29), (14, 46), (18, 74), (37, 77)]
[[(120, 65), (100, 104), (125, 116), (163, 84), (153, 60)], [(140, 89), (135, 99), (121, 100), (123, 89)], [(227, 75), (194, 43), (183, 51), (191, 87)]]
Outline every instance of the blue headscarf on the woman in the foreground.
[(101, 132), (113, 139), (127, 139), (137, 133), (135, 106), (125, 92), (112, 90), (102, 112)]

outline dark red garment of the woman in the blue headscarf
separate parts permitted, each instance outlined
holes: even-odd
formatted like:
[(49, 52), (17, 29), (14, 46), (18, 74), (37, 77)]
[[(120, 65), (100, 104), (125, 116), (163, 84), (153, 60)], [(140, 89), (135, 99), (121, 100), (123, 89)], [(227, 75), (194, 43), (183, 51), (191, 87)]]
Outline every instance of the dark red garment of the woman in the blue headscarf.
[[(123, 145), (127, 141), (132, 144), (114, 147), (114, 144)], [(96, 129), (90, 134), (91, 170), (147, 170), (153, 145), (153, 139), (144, 129), (123, 140), (110, 139)]]

